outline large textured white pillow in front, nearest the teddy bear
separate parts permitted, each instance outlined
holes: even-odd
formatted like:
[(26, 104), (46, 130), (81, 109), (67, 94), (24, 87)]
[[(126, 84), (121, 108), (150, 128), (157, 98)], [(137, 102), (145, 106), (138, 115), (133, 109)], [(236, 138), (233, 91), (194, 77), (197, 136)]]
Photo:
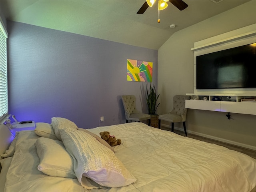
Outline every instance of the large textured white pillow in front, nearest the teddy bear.
[(100, 144), (94, 137), (83, 131), (60, 130), (66, 150), (76, 158), (74, 171), (84, 186), (82, 176), (106, 187), (121, 187), (132, 184), (136, 178), (125, 168), (114, 152)]

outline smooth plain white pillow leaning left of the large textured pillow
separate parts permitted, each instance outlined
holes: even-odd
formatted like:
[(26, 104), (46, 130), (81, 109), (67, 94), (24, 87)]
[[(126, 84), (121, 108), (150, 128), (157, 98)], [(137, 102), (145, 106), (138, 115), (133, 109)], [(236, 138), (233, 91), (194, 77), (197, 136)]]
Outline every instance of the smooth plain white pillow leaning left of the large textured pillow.
[(50, 176), (76, 178), (73, 159), (61, 141), (40, 137), (35, 146), (40, 159), (38, 170)]

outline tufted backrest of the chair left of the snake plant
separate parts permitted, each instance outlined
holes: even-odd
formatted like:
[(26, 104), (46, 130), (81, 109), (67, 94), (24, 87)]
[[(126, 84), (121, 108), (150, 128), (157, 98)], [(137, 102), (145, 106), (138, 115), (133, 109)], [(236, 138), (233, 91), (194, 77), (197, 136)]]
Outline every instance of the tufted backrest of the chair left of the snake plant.
[(125, 117), (128, 118), (130, 114), (140, 113), (136, 109), (136, 97), (134, 95), (122, 95), (122, 102), (124, 105)]

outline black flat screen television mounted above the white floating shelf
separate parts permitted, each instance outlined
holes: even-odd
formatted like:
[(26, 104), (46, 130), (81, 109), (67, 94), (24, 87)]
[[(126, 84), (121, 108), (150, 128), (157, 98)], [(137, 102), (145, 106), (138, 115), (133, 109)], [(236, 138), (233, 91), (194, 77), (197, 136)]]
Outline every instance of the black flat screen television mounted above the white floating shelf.
[(196, 89), (256, 88), (256, 43), (196, 57)]

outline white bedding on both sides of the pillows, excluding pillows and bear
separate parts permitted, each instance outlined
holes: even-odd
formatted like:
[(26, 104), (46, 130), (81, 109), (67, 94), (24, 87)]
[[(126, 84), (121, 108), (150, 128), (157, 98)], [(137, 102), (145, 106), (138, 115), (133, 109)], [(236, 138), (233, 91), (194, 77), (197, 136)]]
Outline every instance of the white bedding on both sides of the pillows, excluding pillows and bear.
[(122, 140), (116, 157), (138, 180), (122, 188), (84, 189), (77, 179), (37, 170), (33, 132), (20, 132), (7, 173), (6, 192), (250, 192), (256, 186), (256, 160), (222, 146), (179, 136), (143, 123), (90, 129)]

